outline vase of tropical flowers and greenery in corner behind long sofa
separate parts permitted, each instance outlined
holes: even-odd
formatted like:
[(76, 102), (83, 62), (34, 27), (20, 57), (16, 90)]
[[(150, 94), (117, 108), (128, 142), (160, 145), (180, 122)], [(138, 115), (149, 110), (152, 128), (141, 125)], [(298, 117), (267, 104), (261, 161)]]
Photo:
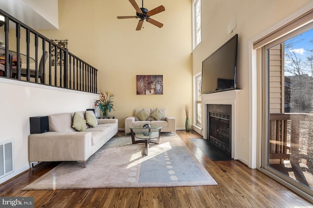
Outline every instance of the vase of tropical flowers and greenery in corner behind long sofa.
[(109, 112), (111, 112), (111, 109), (114, 110), (113, 108), (113, 100), (114, 100), (114, 95), (109, 92), (100, 92), (99, 94), (99, 100), (95, 101), (94, 106), (98, 107), (103, 114), (103, 117), (108, 117)]

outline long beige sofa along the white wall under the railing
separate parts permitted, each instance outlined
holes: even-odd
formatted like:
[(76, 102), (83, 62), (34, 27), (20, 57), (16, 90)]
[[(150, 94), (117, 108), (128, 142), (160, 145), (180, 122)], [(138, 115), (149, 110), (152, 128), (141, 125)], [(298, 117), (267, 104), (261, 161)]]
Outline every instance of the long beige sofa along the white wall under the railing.
[(118, 132), (117, 119), (96, 119), (93, 111), (76, 113), (84, 119), (87, 119), (86, 113), (89, 113), (88, 118), (92, 115), (95, 127), (85, 125), (86, 129), (75, 130), (72, 127), (74, 112), (49, 115), (49, 131), (29, 135), (31, 165), (33, 162), (78, 161), (86, 167), (89, 157)]

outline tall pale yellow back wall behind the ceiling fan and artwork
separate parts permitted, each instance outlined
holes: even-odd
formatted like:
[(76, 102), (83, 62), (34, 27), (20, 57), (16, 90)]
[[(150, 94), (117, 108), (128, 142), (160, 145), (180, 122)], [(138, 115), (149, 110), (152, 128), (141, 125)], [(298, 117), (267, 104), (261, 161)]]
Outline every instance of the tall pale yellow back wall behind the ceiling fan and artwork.
[[(137, 1), (141, 7), (141, 1)], [(192, 104), (191, 3), (190, 0), (144, 1), (165, 11), (153, 16), (158, 28), (138, 19), (128, 0), (60, 0), (59, 30), (40, 31), (51, 39), (68, 39), (68, 49), (98, 71), (98, 89), (114, 93), (119, 128), (134, 108), (162, 107), (184, 128), (184, 104)], [(179, 5), (179, 6), (178, 6)], [(163, 75), (163, 95), (136, 95), (136, 75)], [(190, 115), (192, 117), (192, 115)]]

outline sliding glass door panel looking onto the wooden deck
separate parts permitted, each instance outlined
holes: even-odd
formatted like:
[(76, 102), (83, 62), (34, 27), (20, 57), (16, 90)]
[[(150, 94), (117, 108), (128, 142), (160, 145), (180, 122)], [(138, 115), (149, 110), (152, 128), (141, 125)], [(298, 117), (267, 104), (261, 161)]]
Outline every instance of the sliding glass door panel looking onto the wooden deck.
[(265, 45), (262, 166), (313, 195), (313, 24)]

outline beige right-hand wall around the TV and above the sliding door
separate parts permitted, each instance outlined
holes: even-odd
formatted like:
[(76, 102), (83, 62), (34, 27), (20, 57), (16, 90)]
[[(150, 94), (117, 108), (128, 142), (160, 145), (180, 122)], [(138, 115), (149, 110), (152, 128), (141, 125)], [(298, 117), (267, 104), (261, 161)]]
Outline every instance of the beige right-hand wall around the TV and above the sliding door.
[[(238, 34), (238, 83), (240, 85), (240, 109), (237, 145), (241, 150), (238, 159), (251, 166), (253, 140), (251, 135), (251, 83), (249, 41), (284, 20), (311, 0), (202, 0), (202, 42), (193, 52), (193, 74), (201, 71), (202, 61), (234, 34)], [(227, 24), (236, 16), (237, 27), (227, 35)], [(204, 82), (204, 80), (203, 80)], [(250, 151), (250, 152), (249, 152)], [(256, 149), (254, 149), (256, 151)]]

